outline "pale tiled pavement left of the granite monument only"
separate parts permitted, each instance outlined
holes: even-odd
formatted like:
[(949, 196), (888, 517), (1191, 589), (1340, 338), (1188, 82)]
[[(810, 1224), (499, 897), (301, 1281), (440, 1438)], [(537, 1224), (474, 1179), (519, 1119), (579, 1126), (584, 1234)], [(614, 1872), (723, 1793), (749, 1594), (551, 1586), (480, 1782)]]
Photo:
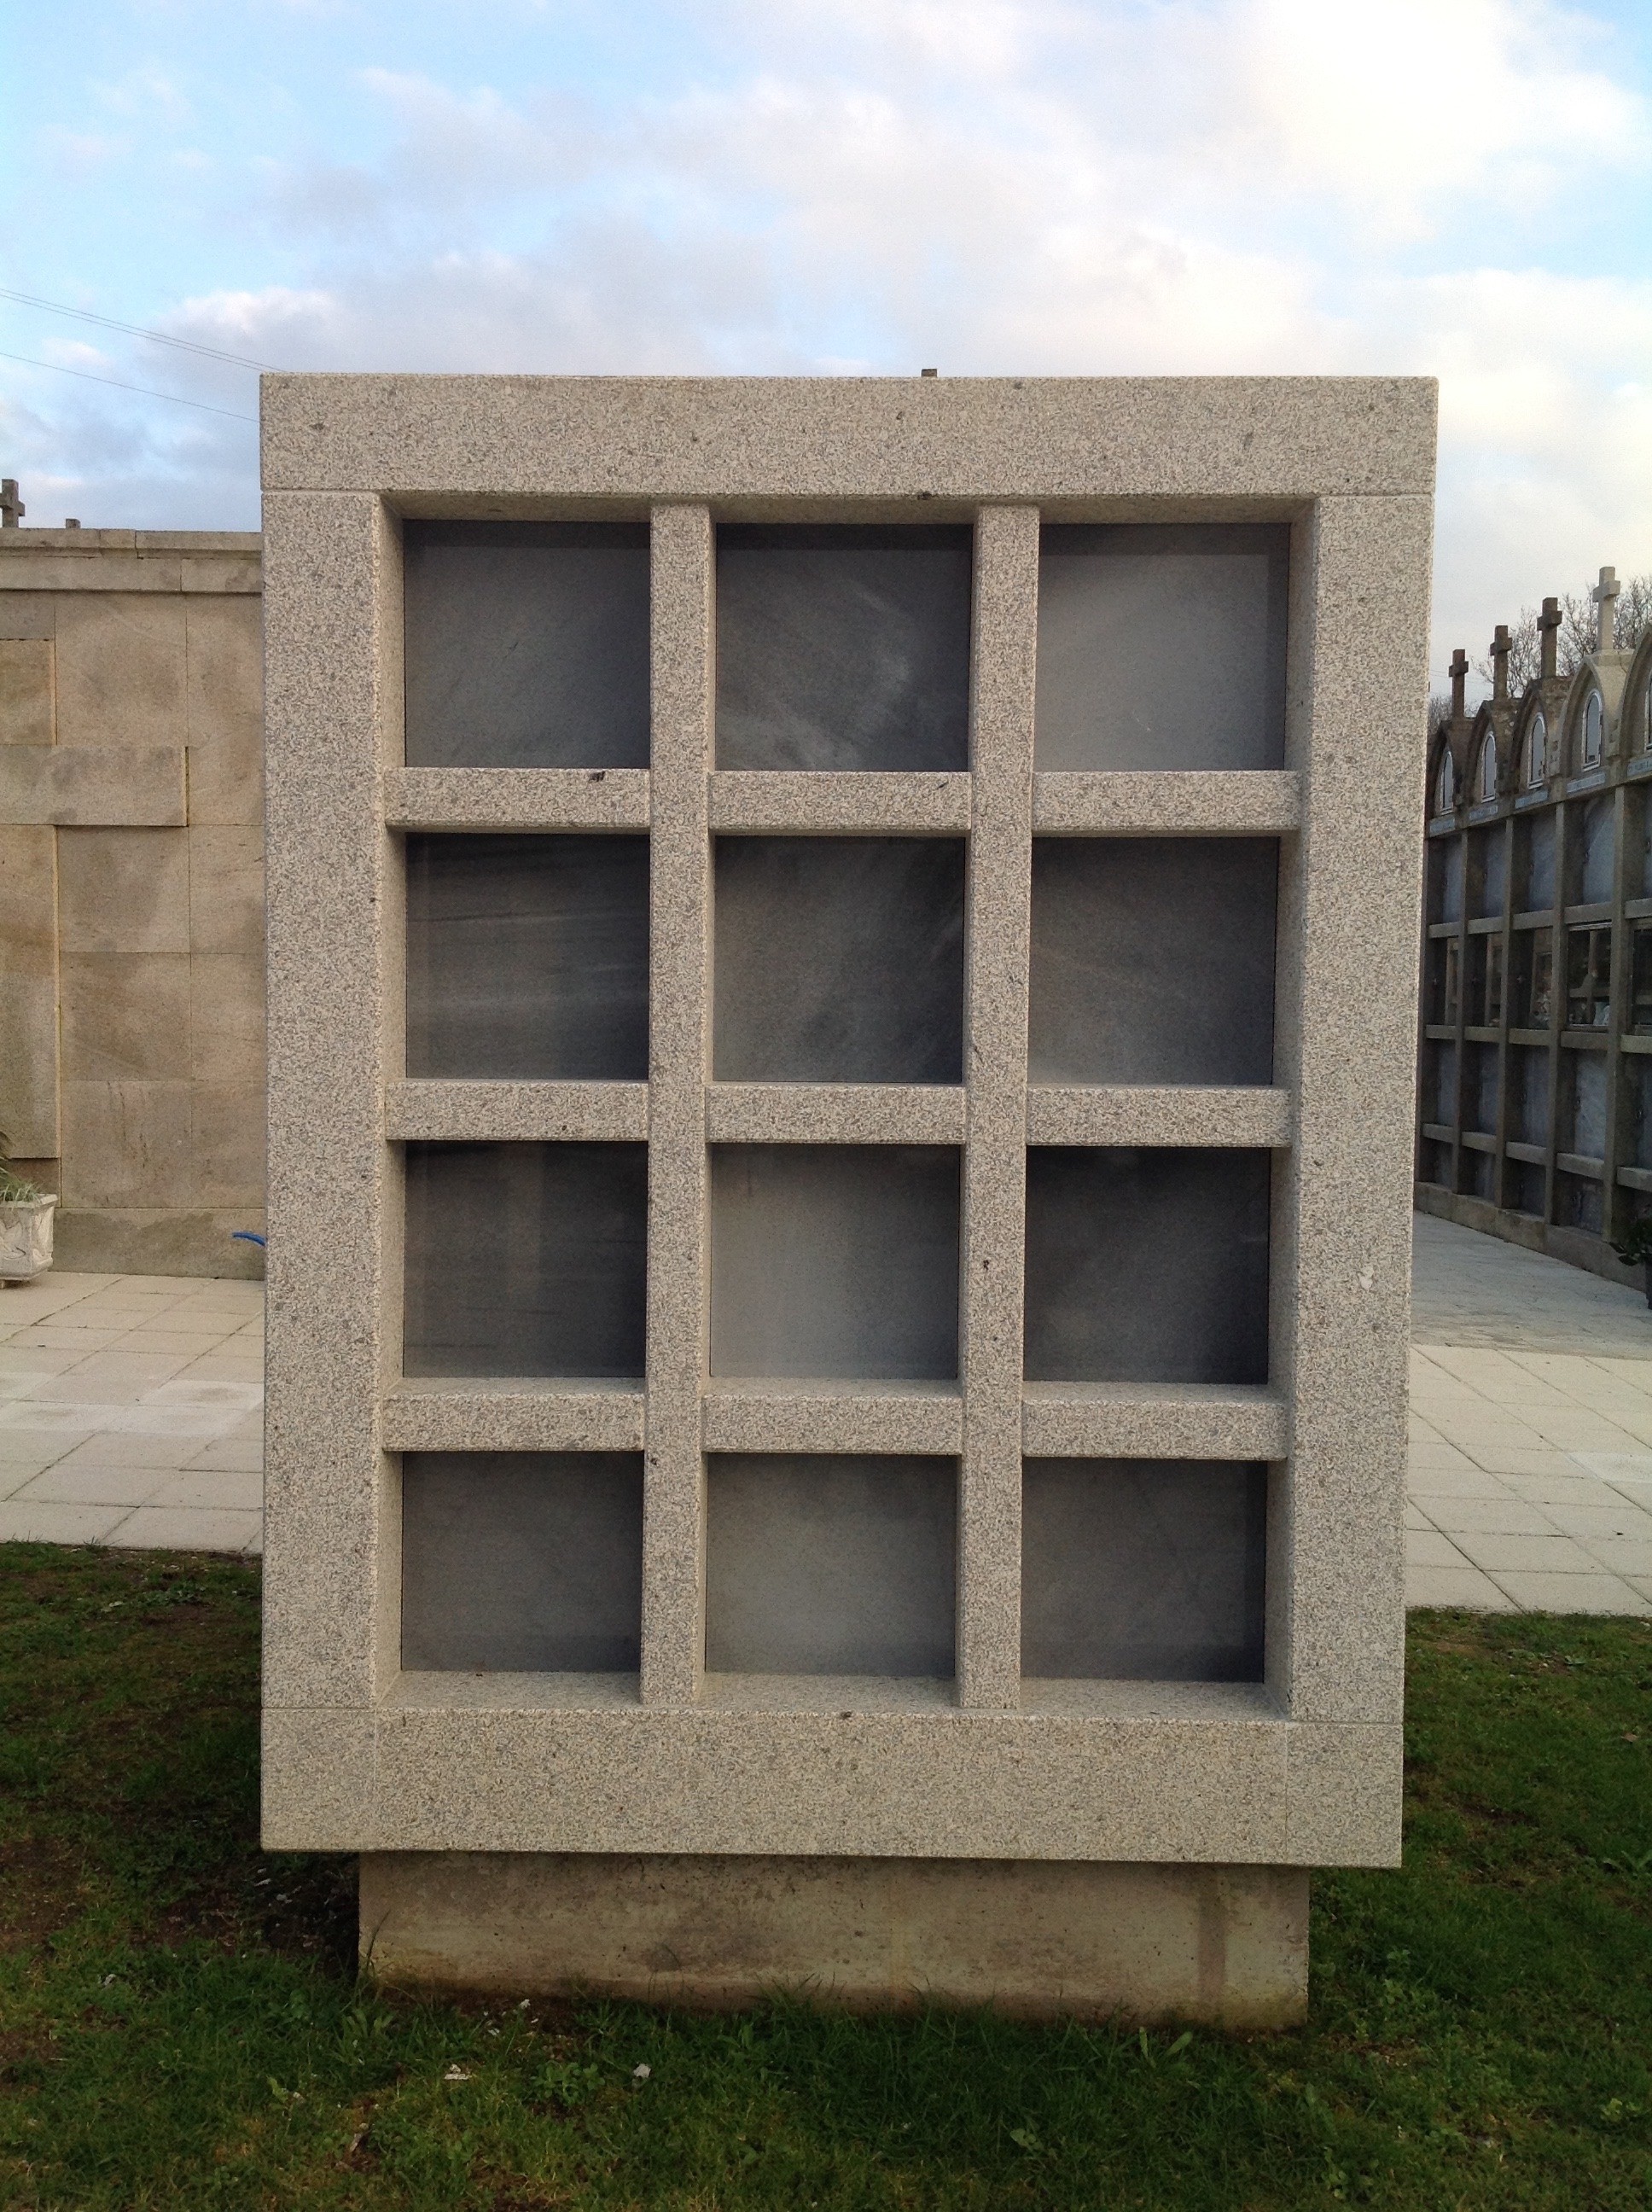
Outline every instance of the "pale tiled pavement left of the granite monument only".
[(0, 1542), (259, 1551), (263, 1285), (0, 1290)]

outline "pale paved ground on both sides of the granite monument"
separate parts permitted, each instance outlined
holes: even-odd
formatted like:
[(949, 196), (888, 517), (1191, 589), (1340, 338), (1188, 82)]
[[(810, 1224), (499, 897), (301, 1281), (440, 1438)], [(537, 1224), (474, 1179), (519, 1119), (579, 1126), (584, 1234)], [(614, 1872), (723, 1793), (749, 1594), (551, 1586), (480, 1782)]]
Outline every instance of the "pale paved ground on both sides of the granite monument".
[[(1652, 1312), (1418, 1217), (1413, 1606), (1652, 1615)], [(0, 1292), (0, 1540), (257, 1551), (263, 1290)]]

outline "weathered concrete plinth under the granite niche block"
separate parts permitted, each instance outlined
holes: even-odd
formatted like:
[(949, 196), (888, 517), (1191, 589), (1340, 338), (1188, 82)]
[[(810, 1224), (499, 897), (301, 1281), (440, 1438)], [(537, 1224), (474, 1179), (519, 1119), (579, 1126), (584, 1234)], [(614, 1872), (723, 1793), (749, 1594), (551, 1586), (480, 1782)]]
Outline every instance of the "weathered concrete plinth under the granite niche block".
[(360, 1951), (387, 1984), (500, 1995), (1283, 2028), (1307, 2011), (1307, 1871), (369, 1851)]

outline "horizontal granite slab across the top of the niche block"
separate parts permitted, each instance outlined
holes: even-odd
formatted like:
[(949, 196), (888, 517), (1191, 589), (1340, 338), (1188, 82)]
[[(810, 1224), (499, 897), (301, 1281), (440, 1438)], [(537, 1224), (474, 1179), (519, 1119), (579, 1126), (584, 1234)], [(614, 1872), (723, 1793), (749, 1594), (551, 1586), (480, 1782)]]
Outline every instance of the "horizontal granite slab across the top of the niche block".
[[(265, 491), (374, 491), (405, 513), (579, 500), (977, 500), (1130, 520), (1130, 500), (1433, 493), (1418, 376), (265, 376)], [(1066, 507), (1064, 507), (1066, 502)], [(1163, 515), (1163, 509), (1159, 509)]]

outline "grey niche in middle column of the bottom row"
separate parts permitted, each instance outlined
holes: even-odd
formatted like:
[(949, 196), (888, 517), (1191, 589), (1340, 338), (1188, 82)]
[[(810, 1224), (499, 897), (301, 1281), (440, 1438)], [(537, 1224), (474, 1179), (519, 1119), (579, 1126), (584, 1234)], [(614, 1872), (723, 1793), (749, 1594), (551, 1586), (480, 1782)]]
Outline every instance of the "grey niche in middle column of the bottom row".
[(953, 1672), (955, 1460), (728, 1453), (705, 1500), (712, 1672)]

